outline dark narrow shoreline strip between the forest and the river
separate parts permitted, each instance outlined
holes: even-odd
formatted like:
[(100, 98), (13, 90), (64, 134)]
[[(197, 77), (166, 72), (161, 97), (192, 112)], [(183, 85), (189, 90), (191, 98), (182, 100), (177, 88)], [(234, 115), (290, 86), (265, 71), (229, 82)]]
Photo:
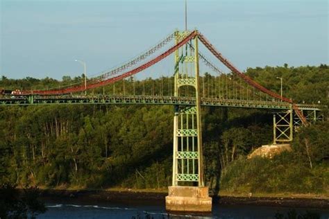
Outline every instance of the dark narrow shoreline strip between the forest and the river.
[[(133, 190), (65, 190), (40, 189), (43, 200), (87, 201), (95, 202), (165, 202), (166, 191)], [(329, 209), (328, 198), (300, 197), (244, 197), (236, 195), (219, 195), (212, 197), (213, 204), (219, 205), (253, 205), (264, 207), (293, 207), (307, 209)]]

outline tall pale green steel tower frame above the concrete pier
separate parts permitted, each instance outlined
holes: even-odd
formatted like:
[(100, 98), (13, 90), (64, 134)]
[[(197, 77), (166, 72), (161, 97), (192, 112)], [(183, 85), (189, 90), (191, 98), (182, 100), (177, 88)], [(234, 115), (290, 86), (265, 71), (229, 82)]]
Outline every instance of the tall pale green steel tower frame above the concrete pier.
[[(189, 35), (189, 31), (176, 31), (176, 44), (185, 35)], [(194, 38), (194, 51), (187, 50), (183, 46), (175, 53), (174, 96), (182, 96), (180, 88), (188, 86), (195, 90), (196, 101), (192, 106), (174, 106), (172, 186), (186, 185), (186, 182), (204, 186), (198, 37)], [(193, 73), (187, 72), (187, 64), (194, 64)]]

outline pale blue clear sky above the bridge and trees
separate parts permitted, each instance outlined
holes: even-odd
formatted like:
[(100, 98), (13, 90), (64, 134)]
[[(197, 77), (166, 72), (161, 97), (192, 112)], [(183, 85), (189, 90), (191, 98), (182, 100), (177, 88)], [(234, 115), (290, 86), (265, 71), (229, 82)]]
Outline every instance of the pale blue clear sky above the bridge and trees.
[[(184, 0), (0, 0), (0, 75), (80, 76), (184, 29)], [(187, 0), (187, 26), (248, 67), (328, 64), (327, 0)], [(174, 63), (173, 63), (174, 69)]]

